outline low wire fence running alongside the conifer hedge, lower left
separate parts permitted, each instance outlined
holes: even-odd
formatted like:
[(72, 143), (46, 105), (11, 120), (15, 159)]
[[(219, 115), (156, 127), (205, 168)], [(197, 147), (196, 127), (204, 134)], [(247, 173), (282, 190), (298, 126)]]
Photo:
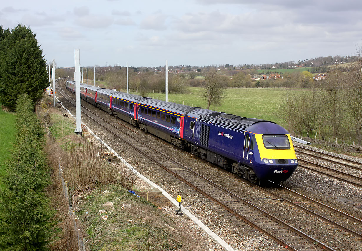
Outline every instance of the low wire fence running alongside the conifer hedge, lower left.
[(62, 184), (62, 191), (63, 191), (63, 195), (64, 195), (64, 201), (66, 202), (66, 204), (69, 207), (69, 212), (68, 212), (68, 216), (71, 218), (71, 220), (73, 221), (73, 225), (74, 225), (74, 233), (76, 235), (76, 238), (78, 240), (78, 250), (79, 251), (86, 251), (85, 249), (85, 239), (83, 238), (82, 234), (81, 234), (81, 230), (80, 230), (80, 222), (78, 220), (78, 218), (75, 215), (75, 211), (73, 209), (72, 206), (72, 202), (68, 193), (68, 183), (65, 180), (65, 176), (63, 173), (63, 169), (61, 166), (61, 161), (59, 160), (59, 180), (60, 180), (60, 184)]

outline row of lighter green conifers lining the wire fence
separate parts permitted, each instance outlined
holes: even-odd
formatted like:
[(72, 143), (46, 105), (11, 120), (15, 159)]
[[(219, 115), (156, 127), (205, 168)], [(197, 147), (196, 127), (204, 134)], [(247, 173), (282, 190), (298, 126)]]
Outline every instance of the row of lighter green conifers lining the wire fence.
[(31, 100), (21, 96), (17, 105), (18, 134), (8, 174), (0, 191), (0, 250), (47, 250), (52, 210), (44, 190), (49, 184), (39, 120)]

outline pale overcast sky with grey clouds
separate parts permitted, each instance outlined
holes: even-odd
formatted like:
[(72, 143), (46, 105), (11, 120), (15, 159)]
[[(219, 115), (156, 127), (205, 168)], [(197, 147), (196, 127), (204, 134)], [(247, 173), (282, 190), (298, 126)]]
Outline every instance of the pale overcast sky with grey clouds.
[(1, 1), (0, 25), (19, 23), (58, 66), (74, 66), (74, 49), (81, 66), (204, 66), (355, 55), (362, 45), (358, 0)]

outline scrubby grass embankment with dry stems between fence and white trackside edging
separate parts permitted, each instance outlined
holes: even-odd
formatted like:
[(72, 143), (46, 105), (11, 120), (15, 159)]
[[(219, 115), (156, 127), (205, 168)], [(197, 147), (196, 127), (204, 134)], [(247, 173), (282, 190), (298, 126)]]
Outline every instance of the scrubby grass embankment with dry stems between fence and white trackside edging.
[[(94, 151), (83, 147), (87, 143), (79, 141), (80, 137), (74, 133), (74, 125), (70, 119), (63, 117), (55, 109), (51, 110), (51, 126), (49, 128), (58, 146), (51, 146), (52, 155), (50, 159), (54, 162), (52, 165), (55, 170), (58, 167), (59, 158), (62, 159), (64, 176), (68, 180), (69, 191), (72, 194), (73, 208), (79, 208), (75, 217), (79, 218), (83, 226), (81, 227), (83, 236), (88, 240), (87, 250), (203, 250), (204, 239), (200, 234), (190, 231), (188, 227), (177, 226), (170, 218), (164, 216), (157, 206), (130, 193), (125, 185), (121, 185), (117, 181), (100, 184), (99, 176), (93, 185), (81, 184), (79, 179), (86, 176), (84, 173), (92, 173), (94, 169), (100, 166), (100, 158)], [(83, 136), (82, 139), (90, 138), (87, 133), (83, 133)], [(99, 145), (96, 146), (96, 151), (100, 151), (99, 147)], [(87, 149), (84, 150), (83, 148)], [(65, 152), (62, 153), (63, 151)], [(96, 160), (89, 160), (91, 158), (96, 158)], [(83, 166), (87, 171), (77, 169), (82, 159), (86, 159)], [(98, 164), (94, 164), (96, 162)], [(108, 162), (106, 164), (109, 165)], [(118, 170), (122, 175), (126, 174), (125, 170)], [(94, 177), (95, 175), (91, 176)], [(85, 179), (90, 180), (89, 175)], [(122, 178), (120, 177), (120, 179)], [(54, 208), (58, 210), (56, 218), (62, 221), (58, 224), (62, 231), (55, 230), (54, 244), (51, 246), (51, 250), (59, 250), (59, 247), (67, 249), (70, 246), (76, 246), (74, 238), (73, 244), (69, 244), (71, 242), (69, 235), (72, 236), (70, 232), (74, 224), (72, 219), (70, 220), (68, 217), (69, 209), (59, 194), (61, 187), (58, 187), (57, 183), (59, 181), (54, 182), (52, 188), (55, 194), (52, 203)], [(123, 181), (122, 184), (124, 184)], [(87, 187), (87, 189), (80, 191), (80, 187)], [(111, 193), (103, 194), (102, 191), (106, 189)], [(58, 194), (56, 194), (57, 191)], [(144, 194), (143, 191), (137, 193)], [(113, 205), (104, 206), (105, 202), (112, 202)], [(121, 208), (126, 203), (131, 204), (130, 209)], [(106, 210), (106, 213), (102, 215), (107, 215), (107, 220), (101, 219), (99, 212), (101, 209)]]

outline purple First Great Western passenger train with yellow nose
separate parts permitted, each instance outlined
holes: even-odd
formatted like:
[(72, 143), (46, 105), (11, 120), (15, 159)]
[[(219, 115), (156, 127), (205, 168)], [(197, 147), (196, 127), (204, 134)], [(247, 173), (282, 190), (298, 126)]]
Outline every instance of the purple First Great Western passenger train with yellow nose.
[[(67, 80), (75, 93), (75, 81)], [(298, 166), (290, 134), (271, 121), (80, 85), (81, 99), (253, 183), (280, 183)]]

